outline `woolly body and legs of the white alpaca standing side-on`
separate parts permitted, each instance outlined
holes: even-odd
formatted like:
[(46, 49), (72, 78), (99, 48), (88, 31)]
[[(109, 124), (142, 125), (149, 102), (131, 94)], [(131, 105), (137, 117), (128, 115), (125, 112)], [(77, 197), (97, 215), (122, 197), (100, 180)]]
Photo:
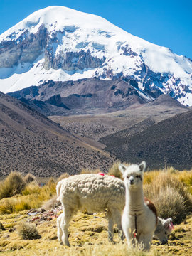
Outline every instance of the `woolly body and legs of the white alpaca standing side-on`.
[(108, 211), (108, 238), (113, 241), (113, 226), (116, 223), (123, 240), (121, 212), (124, 208), (124, 186), (119, 178), (97, 174), (70, 176), (58, 182), (58, 199), (63, 214), (58, 218), (58, 240), (69, 245), (68, 225), (78, 210), (89, 213)]

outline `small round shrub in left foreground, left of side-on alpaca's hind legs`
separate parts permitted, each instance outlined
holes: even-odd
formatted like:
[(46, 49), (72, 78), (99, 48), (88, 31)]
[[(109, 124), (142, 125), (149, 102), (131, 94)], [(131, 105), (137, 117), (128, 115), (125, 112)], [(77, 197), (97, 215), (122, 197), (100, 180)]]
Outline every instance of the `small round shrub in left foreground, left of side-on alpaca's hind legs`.
[(18, 235), (20, 235), (23, 240), (41, 238), (35, 225), (24, 222), (18, 225)]

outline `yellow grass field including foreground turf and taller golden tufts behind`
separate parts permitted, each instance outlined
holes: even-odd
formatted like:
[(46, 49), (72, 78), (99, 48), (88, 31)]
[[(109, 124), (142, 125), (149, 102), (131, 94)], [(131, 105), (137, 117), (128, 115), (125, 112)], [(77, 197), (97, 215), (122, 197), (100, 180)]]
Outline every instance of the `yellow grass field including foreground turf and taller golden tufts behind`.
[[(192, 172), (184, 171), (177, 172), (175, 170), (166, 171), (171, 182), (176, 178), (183, 185), (183, 189), (191, 196), (192, 187)], [(144, 176), (144, 187), (153, 183), (155, 180), (160, 180), (156, 177), (161, 176), (160, 171), (146, 173)], [(164, 174), (162, 174), (164, 175)], [(159, 178), (160, 178), (159, 176)], [(127, 243), (119, 241), (117, 233), (114, 234), (115, 244), (112, 245), (107, 240), (107, 219), (105, 213), (94, 213), (89, 215), (87, 213), (80, 213), (73, 216), (70, 221), (69, 241), (70, 247), (60, 245), (57, 238), (56, 217), (62, 212), (61, 208), (53, 213), (53, 210), (47, 210), (45, 213), (28, 214), (26, 207), (26, 198), (32, 200), (33, 208), (42, 206), (49, 198), (55, 194), (54, 181), (48, 182), (43, 188), (36, 188), (35, 185), (28, 185), (22, 195), (14, 196), (13, 198), (3, 198), (0, 201), (0, 210), (4, 208), (6, 200), (14, 201), (13, 211), (9, 214), (1, 212), (0, 223), (5, 230), (0, 229), (0, 255), (14, 255), (14, 256), (63, 256), (63, 255), (85, 255), (85, 256), (161, 256), (161, 255), (192, 255), (192, 213), (188, 211), (186, 218), (178, 225), (174, 224), (174, 231), (169, 237), (167, 245), (161, 245), (158, 240), (153, 240), (150, 252), (142, 252), (137, 249), (128, 250)], [(176, 182), (176, 189), (178, 184)], [(179, 188), (181, 189), (181, 188)], [(183, 192), (182, 192), (183, 193)], [(36, 198), (36, 203), (34, 201)], [(20, 208), (18, 207), (20, 202)], [(25, 203), (22, 205), (22, 202)], [(191, 205), (192, 206), (192, 205)], [(29, 207), (30, 208), (30, 207)], [(36, 210), (33, 210), (36, 212)], [(52, 214), (52, 218), (41, 218), (43, 214)], [(171, 217), (171, 216), (169, 216)], [(33, 221), (32, 221), (33, 220)], [(36, 225), (38, 233), (41, 235), (40, 239), (23, 240), (18, 233), (21, 223), (33, 223)]]

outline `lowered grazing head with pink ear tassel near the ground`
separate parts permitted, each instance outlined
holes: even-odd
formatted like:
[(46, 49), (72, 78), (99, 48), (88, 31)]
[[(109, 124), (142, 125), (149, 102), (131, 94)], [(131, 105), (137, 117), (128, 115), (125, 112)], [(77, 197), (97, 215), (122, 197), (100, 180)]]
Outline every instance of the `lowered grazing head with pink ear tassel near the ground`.
[(168, 240), (168, 235), (174, 229), (174, 225), (172, 223), (172, 219), (168, 218), (166, 220), (158, 217), (158, 222), (156, 226), (156, 230), (154, 232), (154, 236), (162, 242), (162, 244), (166, 244)]

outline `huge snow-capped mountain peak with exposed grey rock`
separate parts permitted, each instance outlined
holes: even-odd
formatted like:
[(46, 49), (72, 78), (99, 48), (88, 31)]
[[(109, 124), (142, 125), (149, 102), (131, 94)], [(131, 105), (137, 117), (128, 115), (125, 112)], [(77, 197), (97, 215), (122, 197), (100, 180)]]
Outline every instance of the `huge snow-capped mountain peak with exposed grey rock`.
[(100, 16), (50, 6), (1, 34), (2, 92), (84, 78), (135, 80), (140, 92), (169, 94), (192, 106), (190, 59), (132, 36)]

